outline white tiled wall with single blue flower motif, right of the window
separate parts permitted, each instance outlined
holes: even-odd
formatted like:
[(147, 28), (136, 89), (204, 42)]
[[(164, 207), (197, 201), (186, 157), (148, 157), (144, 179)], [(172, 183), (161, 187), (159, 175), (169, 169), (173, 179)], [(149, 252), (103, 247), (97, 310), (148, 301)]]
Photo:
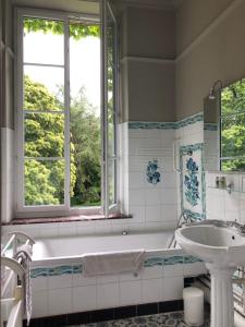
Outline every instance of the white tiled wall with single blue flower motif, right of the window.
[(128, 124), (127, 208), (145, 229), (176, 225), (176, 173), (173, 170), (174, 129)]

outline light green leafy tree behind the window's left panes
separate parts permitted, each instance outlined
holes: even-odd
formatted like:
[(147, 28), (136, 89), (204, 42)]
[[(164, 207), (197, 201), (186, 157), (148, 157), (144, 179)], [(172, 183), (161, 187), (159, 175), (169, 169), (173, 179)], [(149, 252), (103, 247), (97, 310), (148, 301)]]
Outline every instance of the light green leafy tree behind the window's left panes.
[[(64, 118), (59, 101), (45, 85), (24, 77), (25, 114), (25, 205), (62, 204), (64, 199), (64, 160), (48, 160), (63, 157)], [(44, 111), (36, 113), (35, 111)], [(35, 159), (37, 158), (37, 159)], [(39, 160), (38, 158), (47, 158)], [(72, 190), (75, 167), (72, 164)]]

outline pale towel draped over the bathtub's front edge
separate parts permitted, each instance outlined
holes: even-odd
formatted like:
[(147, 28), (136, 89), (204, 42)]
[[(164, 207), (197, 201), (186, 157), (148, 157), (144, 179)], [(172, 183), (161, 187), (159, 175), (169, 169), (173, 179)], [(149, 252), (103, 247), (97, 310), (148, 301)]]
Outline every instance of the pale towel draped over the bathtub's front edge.
[(88, 253), (82, 257), (83, 272), (86, 277), (138, 272), (143, 268), (145, 254), (145, 250)]

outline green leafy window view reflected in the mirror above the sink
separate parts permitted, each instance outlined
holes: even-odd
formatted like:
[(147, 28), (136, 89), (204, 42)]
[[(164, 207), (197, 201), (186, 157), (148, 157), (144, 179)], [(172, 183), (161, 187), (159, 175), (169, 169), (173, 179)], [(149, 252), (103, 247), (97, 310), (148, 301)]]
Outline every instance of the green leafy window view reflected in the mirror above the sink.
[(222, 170), (244, 170), (245, 159), (245, 78), (237, 81), (221, 93), (221, 156)]

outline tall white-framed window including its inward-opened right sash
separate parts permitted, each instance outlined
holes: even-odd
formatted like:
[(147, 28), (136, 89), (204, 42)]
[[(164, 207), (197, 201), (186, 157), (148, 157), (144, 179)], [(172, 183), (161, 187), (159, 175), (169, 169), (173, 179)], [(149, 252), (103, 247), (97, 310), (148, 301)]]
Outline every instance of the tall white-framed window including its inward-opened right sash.
[(105, 8), (103, 24), (17, 10), (20, 217), (117, 209), (117, 25)]

